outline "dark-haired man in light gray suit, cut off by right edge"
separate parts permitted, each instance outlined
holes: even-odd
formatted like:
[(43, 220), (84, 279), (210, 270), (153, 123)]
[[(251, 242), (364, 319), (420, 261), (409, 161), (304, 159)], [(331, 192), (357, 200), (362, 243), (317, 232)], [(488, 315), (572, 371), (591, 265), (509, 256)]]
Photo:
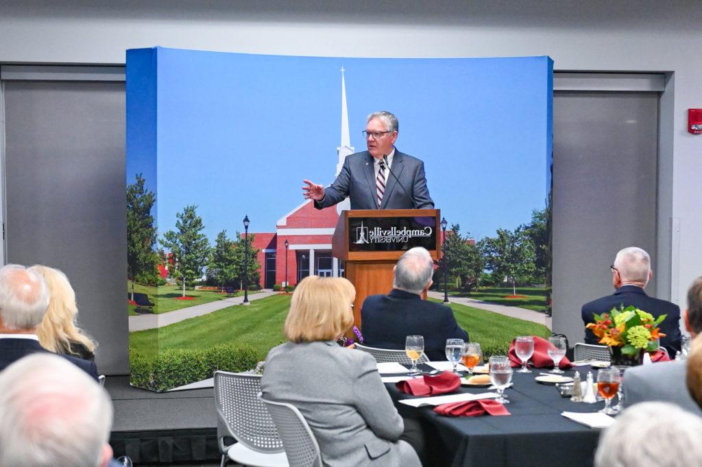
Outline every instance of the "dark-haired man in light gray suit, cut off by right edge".
[[(691, 337), (702, 332), (702, 277), (687, 291), (687, 310), (683, 312), (685, 327)], [(662, 400), (680, 405), (685, 410), (702, 415), (685, 384), (686, 363), (672, 361), (633, 367), (624, 374), (624, 402), (633, 405), (647, 400)]]

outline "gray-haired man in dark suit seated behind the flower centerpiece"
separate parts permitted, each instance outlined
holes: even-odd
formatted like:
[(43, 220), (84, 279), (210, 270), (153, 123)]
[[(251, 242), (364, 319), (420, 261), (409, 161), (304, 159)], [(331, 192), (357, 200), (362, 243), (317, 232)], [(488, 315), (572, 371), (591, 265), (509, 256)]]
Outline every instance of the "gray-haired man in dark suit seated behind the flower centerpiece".
[[(593, 313), (602, 314), (613, 308), (635, 306), (651, 313), (654, 318), (668, 315), (659, 326), (665, 337), (661, 338), (661, 346), (668, 350), (671, 357), (680, 350), (680, 307), (665, 300), (649, 297), (644, 287), (653, 277), (651, 258), (649, 254), (637, 247), (624, 248), (616, 254), (611, 265), (612, 285), (614, 295), (607, 295), (583, 305), (581, 311), (583, 323), (594, 323)], [(592, 331), (585, 329), (585, 343), (598, 344), (598, 339)]]

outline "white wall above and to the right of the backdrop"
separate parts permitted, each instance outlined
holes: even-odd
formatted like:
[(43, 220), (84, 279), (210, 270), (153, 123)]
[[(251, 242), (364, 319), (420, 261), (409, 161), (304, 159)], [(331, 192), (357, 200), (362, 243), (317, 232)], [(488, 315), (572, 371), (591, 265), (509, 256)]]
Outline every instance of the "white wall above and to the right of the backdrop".
[(659, 262), (677, 257), (670, 217), (680, 219), (682, 253), (679, 264), (661, 266), (661, 284), (671, 290), (658, 295), (684, 306), (689, 283), (702, 274), (702, 136), (687, 133), (687, 109), (702, 107), (702, 4), (289, 3), (295, 2), (4, 1), (0, 62), (120, 64), (127, 48), (159, 45), (280, 55), (550, 55), (557, 71), (673, 72), (661, 106)]

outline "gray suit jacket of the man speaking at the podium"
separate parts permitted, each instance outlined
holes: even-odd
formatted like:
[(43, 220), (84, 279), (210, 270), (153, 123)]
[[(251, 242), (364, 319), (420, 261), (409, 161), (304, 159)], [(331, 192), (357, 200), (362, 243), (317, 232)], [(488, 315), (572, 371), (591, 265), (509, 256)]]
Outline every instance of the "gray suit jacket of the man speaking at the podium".
[[(424, 163), (416, 157), (402, 154), (395, 149), (392, 156), (392, 174), (388, 172), (383, 203), (376, 202), (376, 174), (373, 171), (373, 156), (368, 151), (347, 156), (336, 180), (324, 189), (324, 199), (315, 201), (317, 209), (329, 208), (347, 196), (351, 198), (351, 209), (433, 209), (434, 201), (429, 197)], [(397, 181), (402, 187), (397, 187)], [(406, 193), (405, 193), (406, 191)], [(409, 194), (409, 196), (408, 196)]]

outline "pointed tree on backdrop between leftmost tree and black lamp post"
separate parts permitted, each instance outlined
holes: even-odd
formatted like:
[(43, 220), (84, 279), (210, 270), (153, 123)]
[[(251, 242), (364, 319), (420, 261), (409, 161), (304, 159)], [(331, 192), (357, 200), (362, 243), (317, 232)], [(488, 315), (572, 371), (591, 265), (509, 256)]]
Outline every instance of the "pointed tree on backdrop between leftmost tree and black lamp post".
[(177, 231), (169, 230), (161, 239), (161, 245), (172, 255), (171, 276), (183, 280), (183, 297), (186, 283), (192, 283), (202, 276), (202, 269), (208, 262), (209, 242), (202, 231), (205, 229), (202, 218), (197, 215), (196, 205), (187, 205), (183, 212), (176, 214)]

